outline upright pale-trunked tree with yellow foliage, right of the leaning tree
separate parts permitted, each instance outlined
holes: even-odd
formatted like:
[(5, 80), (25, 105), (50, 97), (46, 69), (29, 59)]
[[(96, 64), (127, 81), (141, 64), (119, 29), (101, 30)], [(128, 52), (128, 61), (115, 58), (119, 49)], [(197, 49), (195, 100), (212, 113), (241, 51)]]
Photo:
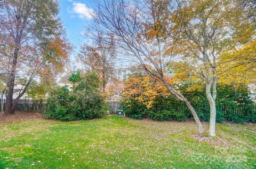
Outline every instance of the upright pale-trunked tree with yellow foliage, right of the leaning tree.
[(210, 104), (210, 136), (215, 136), (217, 83), (221, 74), (220, 57), (250, 41), (254, 29), (245, 1), (183, 1), (178, 21), (182, 21), (180, 49), (183, 63), (203, 79)]

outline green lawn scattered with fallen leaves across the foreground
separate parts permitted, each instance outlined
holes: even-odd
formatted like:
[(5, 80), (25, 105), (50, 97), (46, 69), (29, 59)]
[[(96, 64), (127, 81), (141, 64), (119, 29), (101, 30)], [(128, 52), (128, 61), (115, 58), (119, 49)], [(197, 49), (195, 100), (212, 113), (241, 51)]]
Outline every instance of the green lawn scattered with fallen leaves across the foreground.
[(216, 139), (195, 133), (193, 122), (117, 116), (2, 122), (0, 168), (256, 168), (255, 125), (218, 124)]

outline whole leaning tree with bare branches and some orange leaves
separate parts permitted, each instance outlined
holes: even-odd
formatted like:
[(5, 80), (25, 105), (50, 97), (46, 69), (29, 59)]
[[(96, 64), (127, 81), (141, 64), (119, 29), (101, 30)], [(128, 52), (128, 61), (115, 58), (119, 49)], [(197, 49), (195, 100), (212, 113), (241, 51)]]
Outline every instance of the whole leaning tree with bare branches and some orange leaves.
[(180, 7), (179, 1), (104, 0), (99, 2), (94, 18), (96, 25), (91, 29), (114, 35), (126, 63), (133, 63), (183, 101), (191, 110), (201, 136), (203, 128), (195, 109), (165, 78), (165, 69), (173, 61), (172, 52), (178, 40), (180, 24), (176, 20)]

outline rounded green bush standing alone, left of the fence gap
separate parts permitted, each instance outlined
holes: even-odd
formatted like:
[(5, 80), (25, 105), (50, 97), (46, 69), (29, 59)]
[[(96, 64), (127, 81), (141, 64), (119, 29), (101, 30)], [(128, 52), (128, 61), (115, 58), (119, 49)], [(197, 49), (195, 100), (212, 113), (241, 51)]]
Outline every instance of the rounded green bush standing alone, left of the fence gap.
[(102, 117), (108, 108), (100, 86), (98, 75), (88, 74), (73, 92), (67, 86), (57, 87), (50, 94), (44, 117), (65, 121)]

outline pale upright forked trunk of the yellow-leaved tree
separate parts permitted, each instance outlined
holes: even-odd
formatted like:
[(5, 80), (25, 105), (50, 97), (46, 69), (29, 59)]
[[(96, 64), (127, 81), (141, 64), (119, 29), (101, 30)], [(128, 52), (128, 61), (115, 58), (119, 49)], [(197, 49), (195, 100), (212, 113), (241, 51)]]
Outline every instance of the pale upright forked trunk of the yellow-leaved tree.
[[(213, 84), (211, 85), (210, 78), (206, 82), (206, 98), (210, 104), (210, 126), (209, 126), (209, 135), (216, 136), (215, 127), (216, 127), (216, 84), (217, 78), (213, 78)], [(212, 93), (211, 93), (212, 90)]]

